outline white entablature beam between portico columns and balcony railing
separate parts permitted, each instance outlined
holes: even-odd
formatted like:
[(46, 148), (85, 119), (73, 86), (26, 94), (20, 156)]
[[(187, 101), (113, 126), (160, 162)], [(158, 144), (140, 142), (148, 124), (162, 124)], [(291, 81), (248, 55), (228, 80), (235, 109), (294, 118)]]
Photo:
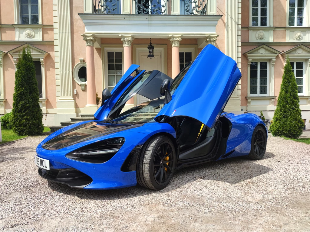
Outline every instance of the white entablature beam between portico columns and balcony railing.
[[(215, 27), (221, 15), (106, 15), (79, 14), (85, 24), (85, 33), (98, 38), (118, 38), (130, 34), (135, 38), (205, 38), (216, 34)], [(149, 22), (149, 23), (145, 23)], [(137, 26), (138, 25), (138, 26)]]

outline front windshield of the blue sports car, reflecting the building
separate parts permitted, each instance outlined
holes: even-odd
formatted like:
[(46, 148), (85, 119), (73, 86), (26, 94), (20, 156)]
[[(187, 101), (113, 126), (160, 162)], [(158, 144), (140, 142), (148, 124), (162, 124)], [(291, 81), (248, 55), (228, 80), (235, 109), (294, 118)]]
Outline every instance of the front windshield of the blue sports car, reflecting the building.
[(125, 124), (140, 124), (151, 121), (155, 122), (154, 118), (162, 109), (163, 105), (164, 100), (162, 99), (147, 101), (126, 110), (111, 122)]

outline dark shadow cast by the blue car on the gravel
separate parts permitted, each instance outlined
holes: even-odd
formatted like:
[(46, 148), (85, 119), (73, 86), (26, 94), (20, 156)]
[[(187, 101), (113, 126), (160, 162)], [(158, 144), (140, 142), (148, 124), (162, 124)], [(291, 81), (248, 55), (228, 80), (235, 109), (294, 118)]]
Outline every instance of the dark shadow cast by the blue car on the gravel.
[[(264, 159), (272, 157), (275, 157), (275, 155), (272, 153), (266, 153)], [(170, 184), (165, 189), (159, 191), (146, 189), (139, 185), (113, 190), (74, 189), (67, 185), (51, 181), (48, 181), (48, 186), (52, 190), (62, 194), (74, 195), (80, 199), (102, 201), (169, 192), (190, 182), (196, 181), (197, 179), (236, 184), (263, 175), (269, 171), (272, 171), (272, 169), (257, 164), (254, 160), (249, 160), (244, 157), (236, 157), (178, 170), (175, 172)]]

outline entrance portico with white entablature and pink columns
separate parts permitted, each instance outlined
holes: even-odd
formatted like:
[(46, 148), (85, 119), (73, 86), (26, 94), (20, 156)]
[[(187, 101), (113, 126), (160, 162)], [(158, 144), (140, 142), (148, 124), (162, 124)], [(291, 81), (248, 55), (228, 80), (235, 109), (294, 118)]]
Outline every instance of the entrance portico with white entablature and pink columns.
[[(87, 68), (87, 105), (84, 108), (87, 113), (94, 113), (96, 108), (92, 105), (95, 101), (95, 63), (94, 46), (101, 47), (101, 38), (113, 38), (120, 40), (123, 44), (123, 73), (132, 64), (133, 53), (135, 53), (135, 62), (146, 66), (146, 62), (141, 59), (148, 59), (144, 56), (136, 56), (136, 50), (133, 50), (132, 44), (138, 39), (167, 39), (170, 41), (172, 53), (160, 55), (161, 58), (153, 58), (152, 62), (165, 62), (171, 59), (172, 66), (171, 77), (180, 71), (179, 49), (182, 39), (195, 39), (198, 49), (202, 49), (207, 44), (215, 44), (218, 35), (215, 27), (222, 15), (119, 15), (114, 14), (79, 14), (85, 24), (85, 33), (82, 34), (86, 41), (86, 68)], [(146, 23), (147, 22), (147, 23)], [(141, 41), (141, 40), (140, 40)], [(153, 42), (153, 41), (152, 41)], [(145, 44), (145, 43), (144, 43)], [(137, 43), (138, 45), (138, 43)], [(142, 44), (140, 44), (142, 46)], [(153, 44), (156, 49), (162, 47), (161, 44)], [(147, 45), (145, 44), (145, 48)], [(138, 49), (139, 50), (139, 49)], [(164, 49), (162, 53), (167, 53)], [(167, 57), (165, 60), (163, 57)], [(90, 62), (89, 62), (90, 61)], [(169, 61), (170, 63), (170, 61)], [(144, 67), (141, 67), (144, 68)], [(149, 67), (148, 67), (149, 68)], [(160, 67), (165, 74), (168, 74), (164, 67)], [(104, 88), (107, 88), (104, 86)], [(140, 100), (136, 100), (136, 104)], [(127, 107), (134, 105), (134, 99), (127, 102)], [(127, 108), (126, 107), (126, 108)]]

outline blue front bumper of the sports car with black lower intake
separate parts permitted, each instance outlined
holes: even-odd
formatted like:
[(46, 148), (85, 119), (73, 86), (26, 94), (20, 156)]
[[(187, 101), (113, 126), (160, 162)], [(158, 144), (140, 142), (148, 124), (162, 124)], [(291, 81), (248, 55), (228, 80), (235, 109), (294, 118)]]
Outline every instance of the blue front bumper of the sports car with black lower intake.
[[(134, 186), (137, 184), (136, 171), (122, 171), (121, 168), (132, 149), (137, 144), (143, 144), (149, 136), (136, 132), (123, 135), (126, 141), (120, 150), (110, 160), (100, 164), (66, 157), (65, 155), (76, 149), (78, 144), (59, 150), (47, 150), (39, 145), (36, 150), (37, 156), (50, 161), (50, 170), (39, 169), (38, 172), (43, 178), (74, 188), (114, 189)], [(68, 170), (74, 171), (76, 175), (65, 173)]]

